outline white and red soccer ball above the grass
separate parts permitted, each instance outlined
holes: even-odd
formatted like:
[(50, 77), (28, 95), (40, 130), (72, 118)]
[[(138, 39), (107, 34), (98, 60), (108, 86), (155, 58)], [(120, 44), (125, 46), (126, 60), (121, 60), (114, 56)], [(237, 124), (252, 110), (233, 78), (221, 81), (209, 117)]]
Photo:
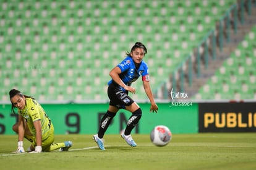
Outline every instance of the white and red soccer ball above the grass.
[(171, 141), (171, 130), (165, 125), (156, 125), (150, 134), (151, 142), (158, 147), (163, 147)]

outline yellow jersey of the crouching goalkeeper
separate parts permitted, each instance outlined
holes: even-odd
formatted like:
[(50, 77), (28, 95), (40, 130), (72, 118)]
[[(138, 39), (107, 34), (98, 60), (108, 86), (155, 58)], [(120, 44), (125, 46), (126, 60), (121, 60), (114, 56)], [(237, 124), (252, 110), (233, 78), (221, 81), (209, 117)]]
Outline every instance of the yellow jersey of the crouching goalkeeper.
[(24, 109), (19, 109), (19, 114), (24, 117), (27, 121), (28, 128), (33, 136), (36, 135), (36, 130), (34, 127), (34, 121), (41, 121), (41, 131), (42, 140), (48, 138), (49, 129), (51, 128), (51, 119), (45, 113), (45, 110), (41, 107), (39, 103), (33, 98), (26, 98), (26, 104)]

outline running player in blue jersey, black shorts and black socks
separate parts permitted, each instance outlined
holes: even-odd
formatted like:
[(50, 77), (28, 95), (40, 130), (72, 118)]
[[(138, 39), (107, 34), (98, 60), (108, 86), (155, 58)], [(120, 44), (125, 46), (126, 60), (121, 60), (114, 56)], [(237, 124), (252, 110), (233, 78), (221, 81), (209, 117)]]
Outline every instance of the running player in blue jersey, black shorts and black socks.
[(124, 138), (127, 144), (131, 147), (137, 146), (132, 139), (130, 132), (139, 122), (140, 117), (142, 117), (142, 109), (140, 109), (140, 106), (128, 96), (128, 92), (135, 93), (135, 88), (131, 87), (131, 84), (132, 82), (135, 82), (140, 75), (142, 76), (143, 87), (151, 103), (150, 112), (155, 111), (157, 113), (158, 111), (158, 106), (155, 103), (149, 84), (150, 78), (148, 75), (148, 66), (143, 61), (143, 57), (147, 54), (147, 48), (142, 43), (137, 42), (132, 46), (130, 53), (127, 52), (126, 54), (126, 59), (109, 72), (112, 79), (108, 82), (108, 97), (110, 100), (108, 111), (101, 119), (98, 134), (93, 135), (93, 139), (100, 150), (105, 150), (103, 136), (119, 109), (126, 109), (132, 113), (121, 137)]

